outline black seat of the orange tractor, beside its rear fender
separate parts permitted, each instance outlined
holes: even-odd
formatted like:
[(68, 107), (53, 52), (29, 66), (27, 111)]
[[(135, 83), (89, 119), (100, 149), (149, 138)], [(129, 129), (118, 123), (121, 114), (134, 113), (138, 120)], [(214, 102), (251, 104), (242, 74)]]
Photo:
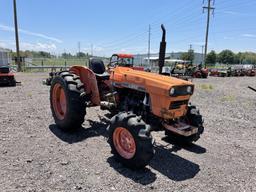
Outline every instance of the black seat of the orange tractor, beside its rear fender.
[(89, 68), (95, 73), (98, 80), (109, 80), (109, 73), (106, 72), (105, 65), (100, 59), (90, 59)]

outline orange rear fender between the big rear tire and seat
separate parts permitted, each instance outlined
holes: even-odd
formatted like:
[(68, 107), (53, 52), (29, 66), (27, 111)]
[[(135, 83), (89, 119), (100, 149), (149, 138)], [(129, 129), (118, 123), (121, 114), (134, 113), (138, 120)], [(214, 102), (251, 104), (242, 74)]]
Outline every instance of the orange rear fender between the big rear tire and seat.
[(100, 105), (98, 84), (93, 71), (84, 66), (73, 66), (69, 71), (80, 77), (82, 83), (85, 85), (86, 93), (91, 94), (91, 102), (94, 105)]

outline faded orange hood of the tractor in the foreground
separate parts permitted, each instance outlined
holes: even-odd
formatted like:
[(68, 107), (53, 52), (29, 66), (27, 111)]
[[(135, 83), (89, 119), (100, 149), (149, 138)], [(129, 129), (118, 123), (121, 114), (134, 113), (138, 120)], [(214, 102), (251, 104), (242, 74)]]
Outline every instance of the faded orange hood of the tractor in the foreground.
[(172, 87), (194, 87), (189, 81), (156, 73), (137, 71), (128, 67), (116, 67), (111, 72), (110, 78), (115, 83), (115, 86), (137, 89), (157, 95), (169, 95)]

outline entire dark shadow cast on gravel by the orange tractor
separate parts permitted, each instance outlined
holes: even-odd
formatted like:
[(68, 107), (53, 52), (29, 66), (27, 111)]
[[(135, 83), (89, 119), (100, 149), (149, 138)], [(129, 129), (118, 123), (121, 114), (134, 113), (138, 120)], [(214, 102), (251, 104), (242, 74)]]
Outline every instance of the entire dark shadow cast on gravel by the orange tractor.
[[(107, 137), (107, 123), (94, 121), (89, 121), (89, 123), (89, 128), (81, 127), (74, 132), (64, 132), (54, 124), (50, 125), (49, 129), (56, 137), (70, 144), (81, 142), (91, 137)], [(206, 152), (205, 148), (195, 144), (178, 145), (176, 143), (172, 143), (172, 148), (159, 145), (155, 146), (156, 153), (149, 166), (173, 181), (184, 181), (193, 178), (200, 171), (200, 167), (198, 164), (195, 164), (172, 153), (181, 149), (185, 149), (197, 154)], [(156, 174), (153, 173), (149, 168), (134, 171), (124, 167), (121, 163), (117, 162), (113, 156), (109, 157), (107, 162), (119, 174), (130, 178), (136, 183), (148, 185), (156, 180)]]

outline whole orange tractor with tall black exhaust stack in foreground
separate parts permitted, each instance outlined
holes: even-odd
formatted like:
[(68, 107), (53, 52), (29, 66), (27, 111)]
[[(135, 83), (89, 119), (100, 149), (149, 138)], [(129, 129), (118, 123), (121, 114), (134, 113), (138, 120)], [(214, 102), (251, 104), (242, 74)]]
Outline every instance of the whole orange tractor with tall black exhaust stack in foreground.
[(57, 126), (80, 128), (86, 108), (101, 106), (112, 115), (107, 130), (114, 157), (135, 169), (145, 167), (154, 155), (152, 131), (165, 130), (179, 142), (197, 141), (204, 127), (198, 109), (189, 103), (194, 85), (161, 74), (166, 46), (162, 29), (160, 74), (134, 70), (131, 58), (120, 64), (120, 55), (108, 70), (103, 61), (91, 59), (89, 68), (73, 66), (55, 74), (50, 102)]

